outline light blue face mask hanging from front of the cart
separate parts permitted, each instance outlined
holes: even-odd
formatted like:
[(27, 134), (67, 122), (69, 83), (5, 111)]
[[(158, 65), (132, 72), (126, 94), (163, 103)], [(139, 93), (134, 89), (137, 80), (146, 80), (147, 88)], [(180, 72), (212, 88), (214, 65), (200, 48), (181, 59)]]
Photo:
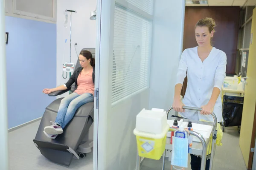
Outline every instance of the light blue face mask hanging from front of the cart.
[(172, 137), (172, 162), (173, 166), (188, 167), (189, 139)]

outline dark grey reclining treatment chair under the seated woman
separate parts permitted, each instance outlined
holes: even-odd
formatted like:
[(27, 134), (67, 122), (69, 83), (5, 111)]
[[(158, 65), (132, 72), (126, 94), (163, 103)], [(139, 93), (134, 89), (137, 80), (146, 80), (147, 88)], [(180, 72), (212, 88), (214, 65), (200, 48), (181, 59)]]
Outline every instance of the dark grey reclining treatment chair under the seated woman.
[[(90, 51), (93, 54), (93, 58), (95, 58), (95, 48), (84, 48), (82, 50)], [(78, 59), (75, 69), (80, 66)], [(71, 89), (55, 91), (50, 93), (49, 96), (57, 96), (74, 90), (75, 83)], [(61, 99), (63, 98), (56, 99), (47, 106), (33, 142), (47, 159), (58, 164), (70, 166), (73, 157), (76, 159), (83, 158), (86, 153), (92, 151), (94, 102), (86, 103), (78, 108), (73, 119), (64, 128), (64, 132), (55, 139), (49, 139), (43, 132), (44, 127), (52, 125), (50, 121), (55, 121)]]

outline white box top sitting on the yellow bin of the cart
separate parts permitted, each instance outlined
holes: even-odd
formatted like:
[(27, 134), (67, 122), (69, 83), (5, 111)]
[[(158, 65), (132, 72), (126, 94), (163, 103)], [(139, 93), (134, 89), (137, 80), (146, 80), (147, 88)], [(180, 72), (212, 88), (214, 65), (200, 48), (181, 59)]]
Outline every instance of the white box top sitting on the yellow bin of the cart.
[(166, 111), (159, 109), (140, 111), (136, 118), (136, 130), (145, 133), (162, 134), (166, 131)]

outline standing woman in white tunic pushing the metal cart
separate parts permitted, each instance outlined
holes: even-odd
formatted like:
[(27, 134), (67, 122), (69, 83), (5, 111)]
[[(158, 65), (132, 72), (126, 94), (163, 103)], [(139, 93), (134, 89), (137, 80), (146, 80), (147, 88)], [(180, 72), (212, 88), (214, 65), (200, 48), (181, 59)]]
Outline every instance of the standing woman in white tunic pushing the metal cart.
[[(213, 122), (212, 112), (217, 122), (222, 119), (221, 86), (226, 76), (227, 56), (213, 47), (211, 40), (215, 32), (215, 21), (204, 18), (195, 25), (195, 40), (198, 46), (183, 51), (177, 71), (173, 109), (181, 116), (192, 119), (204, 119)], [(183, 100), (180, 99), (181, 88), (187, 75), (187, 88)], [(183, 106), (202, 108), (202, 111), (184, 110)], [(201, 158), (191, 156), (192, 170), (200, 170)], [(209, 170), (207, 160), (206, 170)]]

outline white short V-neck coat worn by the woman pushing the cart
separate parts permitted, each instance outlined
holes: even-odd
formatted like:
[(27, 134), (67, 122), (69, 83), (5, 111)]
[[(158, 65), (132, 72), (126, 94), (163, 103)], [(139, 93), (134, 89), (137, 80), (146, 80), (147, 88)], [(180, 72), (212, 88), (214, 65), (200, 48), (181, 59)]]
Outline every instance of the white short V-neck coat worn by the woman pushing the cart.
[[(176, 84), (183, 84), (187, 72), (188, 83), (183, 103), (186, 106), (197, 108), (207, 105), (213, 88), (217, 87), (221, 90), (226, 76), (226, 65), (226, 54), (215, 47), (212, 48), (204, 62), (198, 56), (198, 46), (185, 49), (181, 55), (176, 82)], [(218, 96), (213, 112), (217, 116), (217, 121), (221, 122), (221, 94)], [(213, 122), (211, 115), (201, 115), (199, 111), (185, 110), (185, 113), (180, 113), (180, 115), (192, 120), (204, 119)]]

